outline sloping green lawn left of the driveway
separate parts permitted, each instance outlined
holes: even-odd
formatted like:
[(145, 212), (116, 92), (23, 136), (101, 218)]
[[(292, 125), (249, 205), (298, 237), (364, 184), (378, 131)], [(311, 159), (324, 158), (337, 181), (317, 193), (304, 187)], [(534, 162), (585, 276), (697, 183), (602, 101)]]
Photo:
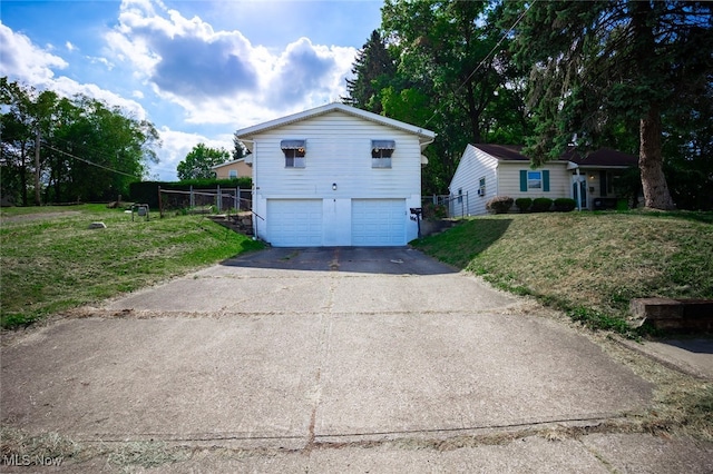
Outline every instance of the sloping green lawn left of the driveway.
[[(262, 248), (201, 216), (135, 218), (102, 205), (2, 209), (2, 327), (28, 325)], [(92, 221), (107, 228), (89, 229)]]

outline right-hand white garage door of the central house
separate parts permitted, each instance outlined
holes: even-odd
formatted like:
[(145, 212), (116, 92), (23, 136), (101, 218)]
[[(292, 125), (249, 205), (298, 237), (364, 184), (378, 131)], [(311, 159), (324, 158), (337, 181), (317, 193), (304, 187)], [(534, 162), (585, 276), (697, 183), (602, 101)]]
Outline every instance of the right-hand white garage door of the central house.
[(406, 245), (404, 199), (353, 199), (352, 245)]

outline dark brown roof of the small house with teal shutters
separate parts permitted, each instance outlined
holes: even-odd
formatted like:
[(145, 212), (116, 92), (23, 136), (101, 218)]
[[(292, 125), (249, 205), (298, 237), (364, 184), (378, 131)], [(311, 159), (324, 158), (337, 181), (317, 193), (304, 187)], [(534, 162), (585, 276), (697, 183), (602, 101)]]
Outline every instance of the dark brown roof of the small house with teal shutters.
[[(522, 155), (522, 145), (491, 145), (476, 144), (472, 145), (481, 151), (497, 158), (501, 161), (529, 161), (530, 159)], [(638, 158), (634, 155), (624, 154), (611, 148), (600, 148), (587, 155), (580, 155), (574, 148), (565, 151), (557, 160), (554, 161), (572, 161), (579, 166), (636, 166)]]

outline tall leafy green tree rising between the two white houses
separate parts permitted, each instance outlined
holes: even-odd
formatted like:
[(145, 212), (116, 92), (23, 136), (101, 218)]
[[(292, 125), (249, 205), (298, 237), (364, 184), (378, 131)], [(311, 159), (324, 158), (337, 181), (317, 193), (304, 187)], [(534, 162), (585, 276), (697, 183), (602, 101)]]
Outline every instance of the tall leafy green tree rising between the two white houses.
[[(443, 194), (468, 142), (519, 144), (524, 81), (489, 1), (387, 0), (383, 38), (397, 63), (383, 113), (434, 130), (423, 194)], [(418, 107), (418, 109), (417, 109)]]

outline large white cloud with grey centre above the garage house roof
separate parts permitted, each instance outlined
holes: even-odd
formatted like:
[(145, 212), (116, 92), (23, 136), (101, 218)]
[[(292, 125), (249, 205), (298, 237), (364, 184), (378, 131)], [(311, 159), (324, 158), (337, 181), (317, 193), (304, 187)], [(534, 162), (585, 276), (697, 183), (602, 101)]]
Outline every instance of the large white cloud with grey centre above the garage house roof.
[(307, 38), (271, 51), (150, 0), (125, 0), (106, 40), (118, 61), (186, 111), (187, 122), (236, 127), (336, 100), (356, 53)]

